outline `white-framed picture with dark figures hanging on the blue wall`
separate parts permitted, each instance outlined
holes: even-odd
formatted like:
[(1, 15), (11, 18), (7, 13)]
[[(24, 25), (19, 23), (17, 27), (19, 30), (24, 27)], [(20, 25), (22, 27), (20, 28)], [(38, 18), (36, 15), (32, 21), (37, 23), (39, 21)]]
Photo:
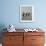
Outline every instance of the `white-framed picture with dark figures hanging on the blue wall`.
[(34, 7), (33, 5), (20, 5), (20, 22), (34, 21)]

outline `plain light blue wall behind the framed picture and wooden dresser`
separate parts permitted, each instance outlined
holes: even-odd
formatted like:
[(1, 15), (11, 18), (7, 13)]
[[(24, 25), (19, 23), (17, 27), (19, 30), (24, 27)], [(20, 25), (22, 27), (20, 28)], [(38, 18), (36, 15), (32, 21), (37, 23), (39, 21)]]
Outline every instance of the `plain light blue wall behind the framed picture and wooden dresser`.
[[(0, 25), (13, 24), (16, 28), (41, 27), (46, 28), (46, 0), (0, 0), (1, 14)], [(28, 4), (34, 6), (35, 22), (21, 23), (20, 5)]]

